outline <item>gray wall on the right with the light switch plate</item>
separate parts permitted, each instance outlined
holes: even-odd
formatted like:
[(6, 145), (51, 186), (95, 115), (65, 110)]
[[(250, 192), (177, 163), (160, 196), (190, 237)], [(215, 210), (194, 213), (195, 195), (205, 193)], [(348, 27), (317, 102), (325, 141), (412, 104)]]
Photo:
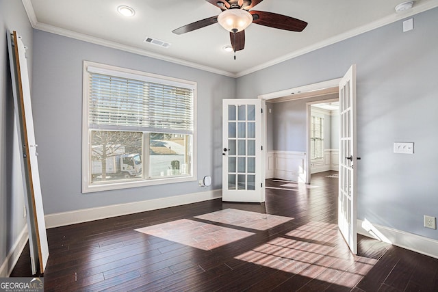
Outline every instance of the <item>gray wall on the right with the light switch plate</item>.
[[(438, 217), (438, 8), (413, 18), (413, 31), (403, 33), (397, 21), (240, 77), (236, 95), (336, 79), (357, 64), (359, 218), (438, 239), (423, 227), (424, 214)], [(299, 140), (274, 148), (305, 149)], [(415, 142), (415, 154), (394, 154), (394, 142)]]

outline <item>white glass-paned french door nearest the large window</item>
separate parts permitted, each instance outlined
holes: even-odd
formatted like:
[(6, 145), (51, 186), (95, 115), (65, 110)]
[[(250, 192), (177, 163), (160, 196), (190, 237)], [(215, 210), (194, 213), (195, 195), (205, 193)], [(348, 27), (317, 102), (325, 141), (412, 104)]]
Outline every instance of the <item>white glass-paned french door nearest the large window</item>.
[(261, 100), (222, 104), (222, 200), (264, 202)]

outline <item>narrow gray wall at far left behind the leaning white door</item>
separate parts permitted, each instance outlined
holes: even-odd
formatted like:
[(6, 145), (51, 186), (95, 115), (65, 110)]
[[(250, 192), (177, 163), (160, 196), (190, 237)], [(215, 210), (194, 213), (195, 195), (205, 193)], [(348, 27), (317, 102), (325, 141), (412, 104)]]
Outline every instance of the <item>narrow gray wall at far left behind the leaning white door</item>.
[[(25, 227), (21, 164), (14, 116), (7, 31), (18, 31), (32, 64), (32, 29), (21, 1), (0, 0), (0, 265)], [(29, 76), (31, 81), (31, 75)], [(3, 276), (3, 275), (2, 275)]]

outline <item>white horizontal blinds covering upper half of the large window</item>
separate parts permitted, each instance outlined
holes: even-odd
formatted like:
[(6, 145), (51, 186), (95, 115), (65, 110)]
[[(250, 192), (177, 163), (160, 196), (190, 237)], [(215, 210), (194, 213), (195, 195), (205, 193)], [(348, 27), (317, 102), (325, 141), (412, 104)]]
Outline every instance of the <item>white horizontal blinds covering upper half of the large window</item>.
[(91, 128), (193, 133), (194, 89), (190, 86), (166, 80), (151, 82), (142, 76), (133, 79), (94, 70), (88, 73)]

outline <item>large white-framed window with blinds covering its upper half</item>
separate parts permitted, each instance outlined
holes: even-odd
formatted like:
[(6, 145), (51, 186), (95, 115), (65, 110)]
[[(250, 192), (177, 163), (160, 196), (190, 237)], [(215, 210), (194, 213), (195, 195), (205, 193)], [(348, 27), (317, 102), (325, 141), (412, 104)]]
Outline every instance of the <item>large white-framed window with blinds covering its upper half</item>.
[(196, 83), (84, 62), (83, 192), (196, 179)]

